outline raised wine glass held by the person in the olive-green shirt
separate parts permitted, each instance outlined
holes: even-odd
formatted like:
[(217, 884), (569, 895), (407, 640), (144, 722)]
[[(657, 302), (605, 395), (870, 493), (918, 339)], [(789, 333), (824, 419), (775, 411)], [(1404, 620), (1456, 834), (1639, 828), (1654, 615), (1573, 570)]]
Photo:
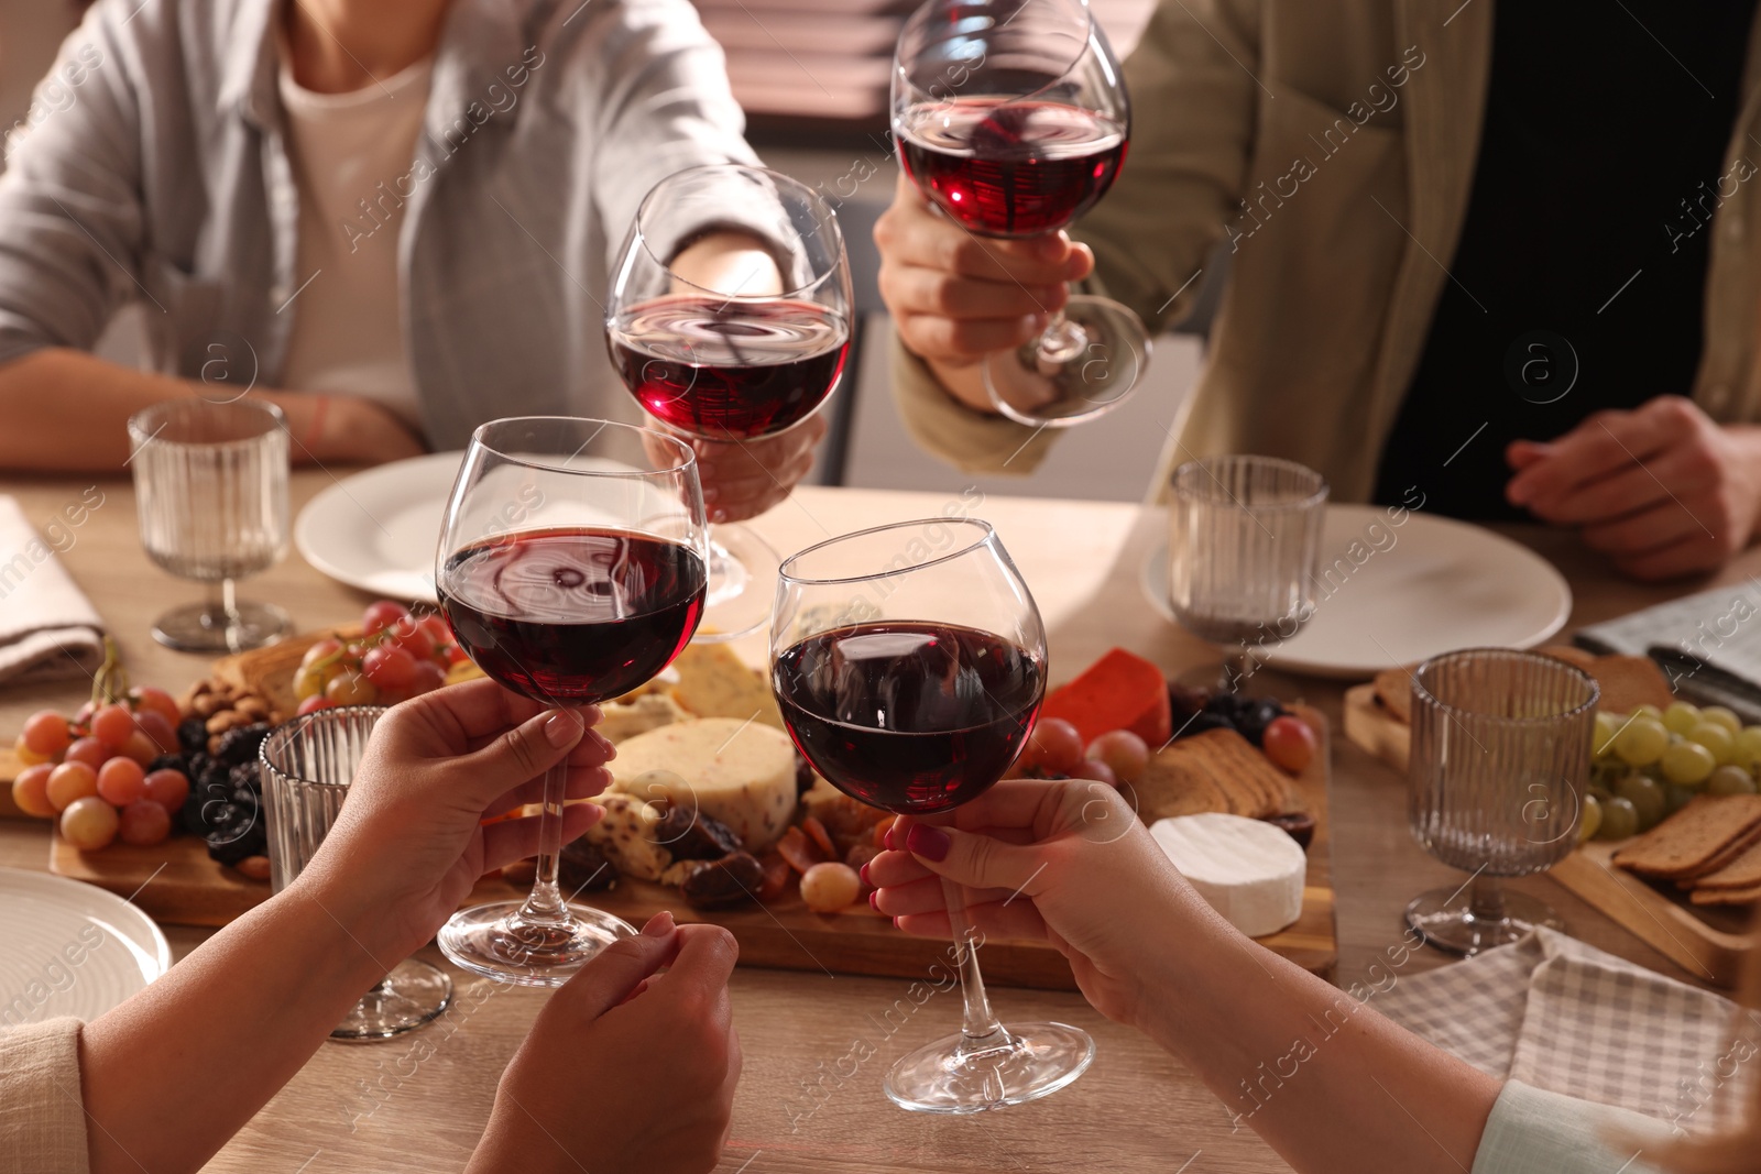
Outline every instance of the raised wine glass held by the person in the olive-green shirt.
[[(893, 139), (925, 197), (976, 238), (1051, 236), (1118, 178), (1131, 99), (1088, 0), (928, 0), (893, 58)], [(1150, 357), (1129, 308), (1079, 294), (984, 361), (1006, 417), (1069, 428), (1118, 407)]]

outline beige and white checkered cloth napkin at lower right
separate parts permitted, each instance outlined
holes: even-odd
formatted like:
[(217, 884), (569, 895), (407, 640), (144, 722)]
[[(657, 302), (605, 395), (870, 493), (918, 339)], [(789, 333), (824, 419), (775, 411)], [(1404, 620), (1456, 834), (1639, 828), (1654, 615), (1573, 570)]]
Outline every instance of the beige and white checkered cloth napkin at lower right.
[(1761, 1067), (1761, 1014), (1553, 929), (1402, 977), (1374, 1007), (1481, 1072), (1689, 1134), (1735, 1125)]

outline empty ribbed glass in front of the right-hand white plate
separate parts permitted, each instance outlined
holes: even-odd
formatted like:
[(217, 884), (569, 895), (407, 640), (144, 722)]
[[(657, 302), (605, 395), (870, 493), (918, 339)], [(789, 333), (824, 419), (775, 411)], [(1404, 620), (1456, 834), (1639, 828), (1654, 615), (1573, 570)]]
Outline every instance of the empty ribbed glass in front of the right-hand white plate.
[(1291, 639), (1314, 613), (1326, 479), (1271, 456), (1212, 456), (1175, 470), (1168, 502), (1168, 597), (1194, 635), (1222, 644), (1224, 688), (1254, 651)]

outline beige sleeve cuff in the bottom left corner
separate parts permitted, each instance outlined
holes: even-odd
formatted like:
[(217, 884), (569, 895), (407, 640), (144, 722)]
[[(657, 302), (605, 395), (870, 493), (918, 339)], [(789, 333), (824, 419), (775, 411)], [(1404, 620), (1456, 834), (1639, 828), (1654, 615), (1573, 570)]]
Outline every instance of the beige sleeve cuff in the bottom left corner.
[(0, 1031), (0, 1174), (86, 1174), (79, 1021)]

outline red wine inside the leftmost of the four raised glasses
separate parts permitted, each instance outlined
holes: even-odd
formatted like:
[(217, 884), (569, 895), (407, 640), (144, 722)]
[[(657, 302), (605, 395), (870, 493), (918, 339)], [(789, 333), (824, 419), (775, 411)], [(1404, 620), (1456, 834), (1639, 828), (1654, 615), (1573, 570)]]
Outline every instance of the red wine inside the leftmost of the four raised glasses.
[(697, 630), (704, 567), (690, 547), (623, 530), (528, 530), (446, 561), (440, 609), (477, 667), (548, 702), (618, 697)]

